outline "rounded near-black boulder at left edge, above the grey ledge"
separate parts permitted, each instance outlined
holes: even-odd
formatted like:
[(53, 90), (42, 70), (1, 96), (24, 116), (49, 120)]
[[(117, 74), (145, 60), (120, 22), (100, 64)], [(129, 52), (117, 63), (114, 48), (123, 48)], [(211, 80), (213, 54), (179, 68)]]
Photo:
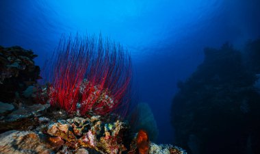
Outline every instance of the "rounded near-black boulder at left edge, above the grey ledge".
[(40, 67), (34, 64), (34, 57), (37, 55), (31, 50), (0, 46), (0, 101), (12, 102), (36, 84)]

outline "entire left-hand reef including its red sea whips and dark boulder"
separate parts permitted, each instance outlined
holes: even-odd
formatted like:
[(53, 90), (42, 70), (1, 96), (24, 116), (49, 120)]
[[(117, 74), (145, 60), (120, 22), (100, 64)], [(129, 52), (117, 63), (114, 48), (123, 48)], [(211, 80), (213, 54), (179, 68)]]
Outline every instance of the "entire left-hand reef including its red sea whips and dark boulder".
[(0, 86), (8, 88), (0, 98), (0, 153), (184, 154), (154, 144), (122, 120), (131, 88), (131, 60), (122, 47), (101, 38), (99, 44), (70, 39), (60, 42), (49, 63), (55, 73), (44, 85), (36, 84), (40, 69), (32, 51), (0, 47)]

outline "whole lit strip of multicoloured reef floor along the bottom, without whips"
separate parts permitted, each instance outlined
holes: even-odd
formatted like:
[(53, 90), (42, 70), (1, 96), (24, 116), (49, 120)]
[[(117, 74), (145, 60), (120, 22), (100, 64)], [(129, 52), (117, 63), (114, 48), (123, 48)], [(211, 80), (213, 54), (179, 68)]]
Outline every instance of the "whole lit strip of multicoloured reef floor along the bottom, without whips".
[[(43, 117), (41, 117), (43, 118)], [(40, 118), (39, 118), (40, 119)], [(144, 132), (144, 131), (140, 131)], [(101, 116), (91, 118), (51, 119), (40, 123), (31, 131), (6, 131), (0, 135), (0, 153), (169, 153), (186, 154), (177, 146), (157, 145), (149, 142), (146, 134), (145, 144), (140, 138), (129, 136), (127, 123), (116, 120), (105, 123)], [(126, 140), (132, 140), (131, 146)], [(140, 146), (142, 144), (142, 146)], [(128, 147), (128, 148), (127, 148)], [(145, 151), (140, 151), (144, 149)]]

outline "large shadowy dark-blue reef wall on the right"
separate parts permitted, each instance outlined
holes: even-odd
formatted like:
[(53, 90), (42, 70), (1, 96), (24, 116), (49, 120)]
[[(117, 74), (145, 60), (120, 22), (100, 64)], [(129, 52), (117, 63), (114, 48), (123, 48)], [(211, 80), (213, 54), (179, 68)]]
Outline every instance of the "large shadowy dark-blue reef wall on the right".
[(260, 153), (260, 95), (254, 87), (260, 63), (252, 58), (260, 55), (259, 42), (247, 44), (243, 53), (228, 43), (207, 48), (203, 64), (179, 82), (172, 125), (188, 153)]

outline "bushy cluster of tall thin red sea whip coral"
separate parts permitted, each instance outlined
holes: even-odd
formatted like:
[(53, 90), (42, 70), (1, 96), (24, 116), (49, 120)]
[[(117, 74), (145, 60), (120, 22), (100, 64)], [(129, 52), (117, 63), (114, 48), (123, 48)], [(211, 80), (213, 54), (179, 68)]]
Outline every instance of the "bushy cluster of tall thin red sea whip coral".
[(47, 66), (51, 105), (81, 115), (127, 111), (131, 57), (120, 44), (101, 36), (62, 37)]

